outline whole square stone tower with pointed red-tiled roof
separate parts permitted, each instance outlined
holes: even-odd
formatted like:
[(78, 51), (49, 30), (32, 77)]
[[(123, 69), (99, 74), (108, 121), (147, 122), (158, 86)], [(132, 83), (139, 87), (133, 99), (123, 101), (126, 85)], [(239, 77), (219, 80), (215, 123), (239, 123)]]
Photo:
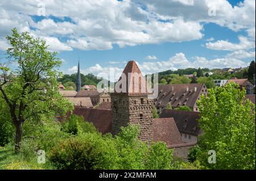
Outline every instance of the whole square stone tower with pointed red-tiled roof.
[(152, 140), (153, 99), (148, 92), (146, 79), (135, 61), (129, 61), (111, 94), (113, 123), (112, 134), (128, 123), (139, 124), (142, 141)]

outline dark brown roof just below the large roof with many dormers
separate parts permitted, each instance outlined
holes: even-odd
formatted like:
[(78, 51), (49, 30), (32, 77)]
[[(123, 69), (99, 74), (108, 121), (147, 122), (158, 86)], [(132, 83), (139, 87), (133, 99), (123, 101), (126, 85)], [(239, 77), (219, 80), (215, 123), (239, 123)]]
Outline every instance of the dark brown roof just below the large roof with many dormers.
[(164, 109), (159, 117), (173, 117), (180, 132), (198, 136), (201, 134), (198, 121), (200, 112)]

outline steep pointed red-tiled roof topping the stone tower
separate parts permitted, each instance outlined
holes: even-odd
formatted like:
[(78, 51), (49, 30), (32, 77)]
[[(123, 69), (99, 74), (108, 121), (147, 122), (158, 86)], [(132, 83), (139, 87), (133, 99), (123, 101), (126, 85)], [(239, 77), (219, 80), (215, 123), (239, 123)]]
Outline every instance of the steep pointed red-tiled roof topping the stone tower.
[[(135, 61), (129, 61), (123, 70), (122, 75), (125, 75), (125, 85), (126, 90), (125, 92), (122, 93), (127, 93), (127, 94), (148, 94), (148, 89), (147, 89), (147, 83), (146, 83), (146, 78), (141, 73), (141, 70), (139, 70), (138, 65), (136, 64)], [(119, 78), (118, 83), (122, 82), (122, 75)], [(124, 82), (124, 80), (123, 80)], [(117, 92), (115, 90), (115, 92)]]

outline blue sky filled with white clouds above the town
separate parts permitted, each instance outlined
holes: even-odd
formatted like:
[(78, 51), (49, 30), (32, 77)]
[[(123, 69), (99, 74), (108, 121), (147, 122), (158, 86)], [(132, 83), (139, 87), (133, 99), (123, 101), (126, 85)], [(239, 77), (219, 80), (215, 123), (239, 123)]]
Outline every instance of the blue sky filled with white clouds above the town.
[(143, 73), (244, 67), (255, 60), (255, 0), (0, 1), (0, 55), (12, 28), (59, 52), (61, 70)]

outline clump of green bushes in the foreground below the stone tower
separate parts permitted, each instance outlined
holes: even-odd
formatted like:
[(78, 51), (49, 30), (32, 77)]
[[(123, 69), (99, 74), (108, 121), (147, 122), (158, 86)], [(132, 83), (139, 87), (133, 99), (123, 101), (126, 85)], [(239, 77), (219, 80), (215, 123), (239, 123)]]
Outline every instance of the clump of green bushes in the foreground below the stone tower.
[(138, 125), (130, 124), (116, 137), (81, 131), (53, 147), (49, 160), (57, 169), (174, 169), (166, 144), (148, 148), (138, 134)]

